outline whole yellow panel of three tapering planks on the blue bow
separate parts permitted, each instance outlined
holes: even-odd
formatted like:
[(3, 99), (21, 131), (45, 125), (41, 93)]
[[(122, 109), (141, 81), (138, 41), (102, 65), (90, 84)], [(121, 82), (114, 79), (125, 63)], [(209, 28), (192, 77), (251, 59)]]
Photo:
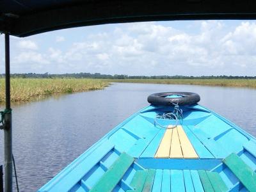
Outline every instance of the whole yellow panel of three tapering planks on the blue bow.
[[(168, 127), (172, 127), (169, 125)], [(166, 129), (155, 158), (198, 159), (195, 148), (191, 144), (181, 125)]]

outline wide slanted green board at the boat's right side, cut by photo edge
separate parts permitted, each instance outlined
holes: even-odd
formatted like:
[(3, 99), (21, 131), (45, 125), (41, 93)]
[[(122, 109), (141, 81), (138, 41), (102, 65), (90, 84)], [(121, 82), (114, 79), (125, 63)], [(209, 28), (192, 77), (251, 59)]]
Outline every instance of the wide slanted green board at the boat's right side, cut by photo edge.
[(237, 154), (230, 154), (223, 159), (223, 162), (230, 168), (236, 177), (242, 182), (248, 191), (256, 191), (256, 173)]

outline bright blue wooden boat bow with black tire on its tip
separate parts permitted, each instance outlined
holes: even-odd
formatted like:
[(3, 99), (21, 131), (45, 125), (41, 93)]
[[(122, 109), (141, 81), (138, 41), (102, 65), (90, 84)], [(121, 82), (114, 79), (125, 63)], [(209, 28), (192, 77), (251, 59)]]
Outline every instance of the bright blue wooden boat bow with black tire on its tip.
[(38, 191), (256, 191), (256, 140), (200, 106), (157, 93)]

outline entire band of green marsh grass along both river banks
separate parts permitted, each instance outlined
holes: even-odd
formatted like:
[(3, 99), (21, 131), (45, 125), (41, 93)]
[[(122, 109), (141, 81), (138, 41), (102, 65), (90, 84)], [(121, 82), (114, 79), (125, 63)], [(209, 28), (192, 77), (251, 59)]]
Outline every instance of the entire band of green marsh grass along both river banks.
[[(112, 82), (196, 84), (207, 86), (237, 86), (256, 88), (256, 79), (85, 79), (85, 78), (12, 78), (12, 102), (42, 99), (54, 93), (100, 90)], [(0, 102), (4, 102), (4, 79), (0, 78)]]

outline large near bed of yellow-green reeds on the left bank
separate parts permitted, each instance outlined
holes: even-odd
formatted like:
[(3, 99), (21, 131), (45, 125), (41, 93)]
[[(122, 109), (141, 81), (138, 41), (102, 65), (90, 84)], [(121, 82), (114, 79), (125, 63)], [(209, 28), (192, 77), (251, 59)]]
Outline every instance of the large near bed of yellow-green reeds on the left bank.
[[(100, 90), (108, 86), (100, 79), (11, 79), (11, 101), (26, 102), (54, 93)], [(4, 79), (0, 79), (0, 102), (5, 101)]]

